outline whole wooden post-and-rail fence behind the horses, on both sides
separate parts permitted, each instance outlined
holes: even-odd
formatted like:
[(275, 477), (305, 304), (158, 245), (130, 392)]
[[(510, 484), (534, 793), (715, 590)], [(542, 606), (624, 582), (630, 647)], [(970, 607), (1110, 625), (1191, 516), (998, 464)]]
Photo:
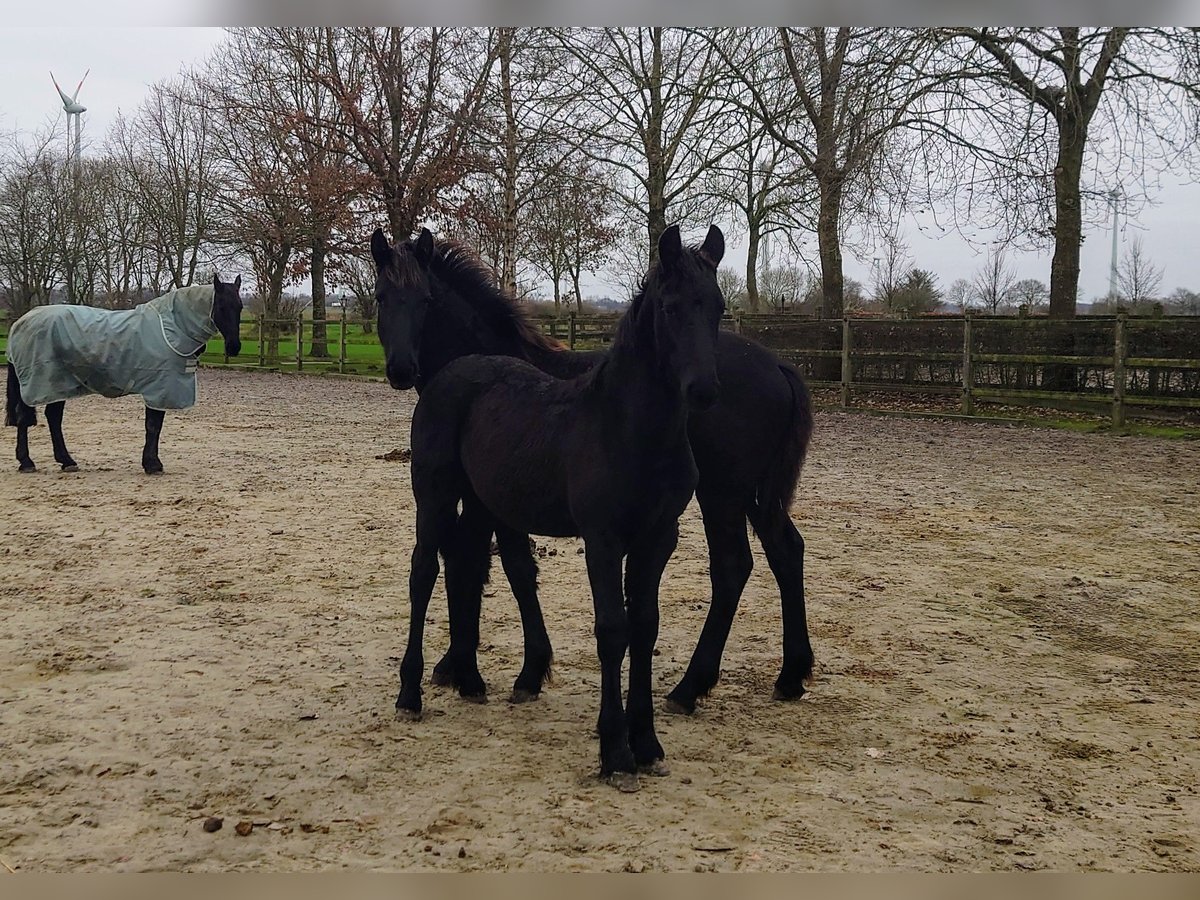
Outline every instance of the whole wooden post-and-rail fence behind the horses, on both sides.
[[(535, 318), (569, 348), (612, 341), (619, 316)], [(204, 365), (383, 374), (373, 323), (347, 316), (242, 323), (244, 355), (223, 355), (215, 338)], [(1200, 410), (1200, 318), (1088, 316), (1075, 319), (959, 316), (816, 319), (796, 313), (736, 313), (722, 326), (796, 364), (815, 388), (836, 390), (842, 408), (869, 392), (959, 396), (977, 402), (1106, 410), (1117, 427), (1129, 408)], [(0, 348), (2, 334), (0, 329)], [(316, 344), (316, 346), (314, 346)], [(317, 353), (314, 353), (314, 350)]]

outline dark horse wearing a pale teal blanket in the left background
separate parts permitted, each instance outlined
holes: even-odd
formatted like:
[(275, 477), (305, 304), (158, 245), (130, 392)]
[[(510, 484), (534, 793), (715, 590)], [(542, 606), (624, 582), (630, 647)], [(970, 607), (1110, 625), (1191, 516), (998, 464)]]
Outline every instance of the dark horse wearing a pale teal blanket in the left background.
[(20, 472), (36, 472), (29, 428), (36, 407), (46, 407), (54, 460), (64, 472), (79, 467), (62, 439), (66, 401), (84, 394), (120, 397), (140, 394), (146, 404), (142, 468), (162, 473), (158, 436), (164, 410), (196, 403), (196, 361), (212, 335), (224, 337), (226, 354), (241, 352), (241, 276), (178, 288), (133, 310), (38, 306), (8, 330), (5, 425), (17, 427)]

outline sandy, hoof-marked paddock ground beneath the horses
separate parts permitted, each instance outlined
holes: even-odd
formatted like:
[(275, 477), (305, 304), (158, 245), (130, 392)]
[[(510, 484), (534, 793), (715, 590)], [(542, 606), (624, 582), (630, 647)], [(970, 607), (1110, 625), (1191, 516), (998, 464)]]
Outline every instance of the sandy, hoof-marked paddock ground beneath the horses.
[[(811, 692), (776, 703), (756, 566), (722, 680), (660, 716), (671, 774), (596, 778), (574, 540), (539, 541), (556, 680), (392, 716), (414, 396), (202, 372), (139, 467), (136, 400), (67, 406), (82, 472), (0, 473), (0, 860), (218, 869), (1200, 869), (1200, 446), (822, 414), (793, 509)], [(659, 697), (707, 608), (695, 505), (662, 590)], [(440, 583), (427, 665), (446, 644)], [(223, 827), (206, 833), (206, 817)], [(250, 823), (248, 834), (235, 826)], [(242, 826), (242, 830), (246, 826)], [(0, 880), (7, 877), (0, 870)]]

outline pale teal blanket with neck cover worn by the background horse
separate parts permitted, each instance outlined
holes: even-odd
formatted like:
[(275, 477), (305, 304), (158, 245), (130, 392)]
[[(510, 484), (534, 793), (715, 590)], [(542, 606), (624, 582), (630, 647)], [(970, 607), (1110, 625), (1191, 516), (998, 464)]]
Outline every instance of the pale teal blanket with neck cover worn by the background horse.
[(193, 284), (126, 311), (38, 306), (8, 329), (7, 354), (31, 407), (140, 394), (151, 409), (186, 409), (197, 356), (216, 331), (212, 286)]

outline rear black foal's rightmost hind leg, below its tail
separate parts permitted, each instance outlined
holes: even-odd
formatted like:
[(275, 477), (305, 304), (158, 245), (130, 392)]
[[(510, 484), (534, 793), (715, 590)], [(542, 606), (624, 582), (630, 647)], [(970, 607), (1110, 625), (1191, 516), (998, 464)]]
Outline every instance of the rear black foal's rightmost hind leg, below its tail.
[(812, 677), (812, 643), (809, 640), (808, 613), (804, 606), (804, 538), (784, 509), (750, 515), (767, 563), (779, 582), (784, 614), (784, 666), (775, 680), (775, 700), (798, 700), (804, 683)]

